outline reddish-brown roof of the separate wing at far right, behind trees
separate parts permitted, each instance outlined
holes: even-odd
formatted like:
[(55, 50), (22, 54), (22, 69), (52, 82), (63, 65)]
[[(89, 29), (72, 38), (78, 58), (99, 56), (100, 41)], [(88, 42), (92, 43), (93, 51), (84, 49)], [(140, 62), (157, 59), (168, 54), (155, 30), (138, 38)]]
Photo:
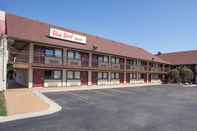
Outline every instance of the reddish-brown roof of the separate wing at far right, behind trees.
[(174, 65), (197, 64), (197, 50), (165, 53), (158, 57)]

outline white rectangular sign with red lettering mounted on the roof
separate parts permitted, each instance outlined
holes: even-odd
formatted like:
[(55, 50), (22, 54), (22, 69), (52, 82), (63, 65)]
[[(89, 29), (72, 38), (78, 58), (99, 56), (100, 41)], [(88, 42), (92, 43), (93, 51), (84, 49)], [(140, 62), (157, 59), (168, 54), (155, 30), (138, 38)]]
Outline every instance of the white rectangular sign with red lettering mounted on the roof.
[(74, 33), (59, 30), (56, 28), (50, 28), (49, 36), (52, 38), (57, 38), (57, 39), (68, 40), (68, 41), (86, 44), (86, 36), (74, 34)]

